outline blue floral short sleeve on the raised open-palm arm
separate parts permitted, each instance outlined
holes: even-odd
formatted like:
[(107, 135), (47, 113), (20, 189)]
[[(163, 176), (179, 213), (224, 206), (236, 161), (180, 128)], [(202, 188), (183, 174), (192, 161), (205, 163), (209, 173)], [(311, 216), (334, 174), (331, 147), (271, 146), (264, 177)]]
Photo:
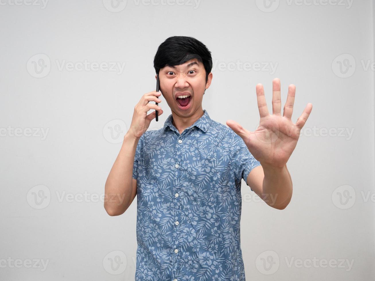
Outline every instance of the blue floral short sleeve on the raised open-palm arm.
[[(257, 159), (254, 158), (245, 142), (239, 135), (232, 132), (230, 139), (232, 143), (232, 159), (230, 164), (231, 169), (233, 170), (237, 181), (240, 182), (241, 179), (243, 179), (246, 182), (246, 185), (248, 185), (247, 179), (249, 173), (252, 169), (260, 166), (261, 164)], [(252, 188), (250, 189), (253, 191)]]

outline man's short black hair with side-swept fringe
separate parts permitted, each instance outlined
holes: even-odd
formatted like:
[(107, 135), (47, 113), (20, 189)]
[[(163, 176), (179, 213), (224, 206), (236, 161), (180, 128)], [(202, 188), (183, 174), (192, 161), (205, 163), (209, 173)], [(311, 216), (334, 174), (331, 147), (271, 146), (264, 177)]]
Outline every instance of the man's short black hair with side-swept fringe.
[(160, 69), (169, 66), (177, 66), (186, 63), (186, 61), (196, 58), (200, 61), (206, 71), (206, 82), (208, 74), (212, 69), (211, 52), (200, 41), (193, 37), (187, 36), (172, 36), (167, 38), (157, 48), (154, 57), (154, 68), (156, 74)]

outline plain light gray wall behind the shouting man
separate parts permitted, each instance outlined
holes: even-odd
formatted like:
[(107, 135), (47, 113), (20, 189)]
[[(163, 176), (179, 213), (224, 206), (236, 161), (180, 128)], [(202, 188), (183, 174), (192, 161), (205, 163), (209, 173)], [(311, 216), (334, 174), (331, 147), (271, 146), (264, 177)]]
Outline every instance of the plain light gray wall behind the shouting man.
[[(203, 108), (220, 123), (255, 130), (255, 85), (272, 112), (275, 77), (283, 106), (296, 85), (294, 122), (313, 104), (288, 161), (290, 205), (273, 209), (242, 182), (246, 278), (374, 279), (372, 1), (124, 3), (1, 1), (0, 279), (134, 279), (136, 201), (110, 217), (101, 196), (134, 105), (154, 90), (157, 46), (173, 35), (212, 52)], [(160, 105), (150, 130), (171, 113)]]

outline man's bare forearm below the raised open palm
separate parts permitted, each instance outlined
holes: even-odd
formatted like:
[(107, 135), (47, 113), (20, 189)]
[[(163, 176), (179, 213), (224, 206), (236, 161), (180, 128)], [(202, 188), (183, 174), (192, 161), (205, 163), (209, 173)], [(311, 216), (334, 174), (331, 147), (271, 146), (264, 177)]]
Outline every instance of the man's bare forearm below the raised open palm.
[(263, 195), (267, 195), (267, 204), (276, 209), (284, 209), (290, 202), (293, 193), (293, 182), (287, 165), (284, 167), (272, 167), (263, 165)]

